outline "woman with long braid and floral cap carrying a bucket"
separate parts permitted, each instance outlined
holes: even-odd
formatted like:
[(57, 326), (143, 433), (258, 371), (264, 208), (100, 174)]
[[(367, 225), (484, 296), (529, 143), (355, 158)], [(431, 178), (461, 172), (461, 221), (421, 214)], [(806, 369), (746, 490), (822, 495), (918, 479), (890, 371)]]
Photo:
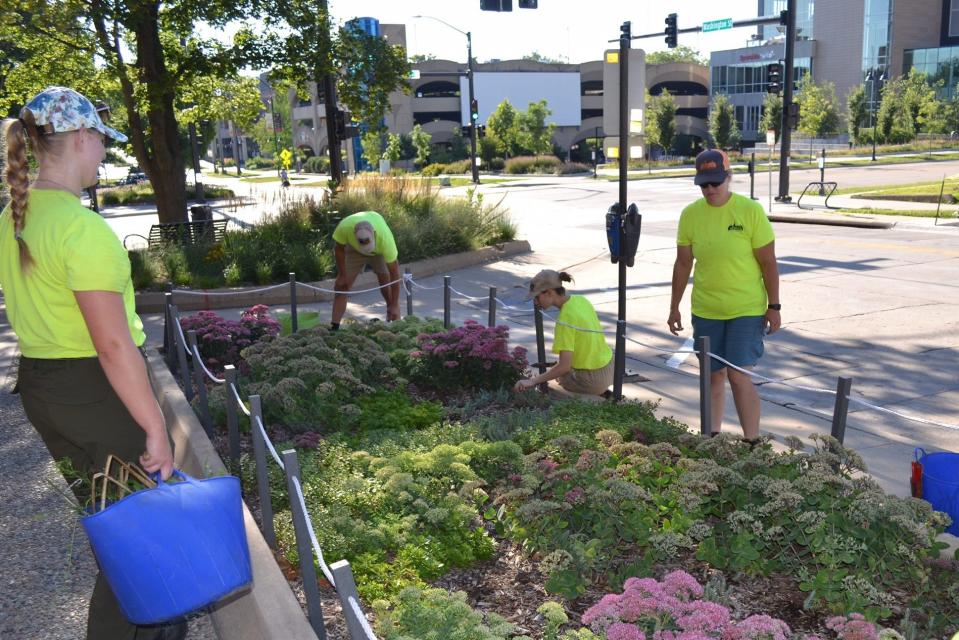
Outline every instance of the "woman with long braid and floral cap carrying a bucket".
[[(173, 452), (138, 350), (146, 336), (134, 312), (130, 261), (103, 218), (80, 204), (97, 181), (105, 138), (126, 137), (64, 87), (34, 97), (0, 133), (10, 191), (0, 214), (0, 286), (22, 354), (17, 386), (27, 418), (53, 458), (69, 459), (81, 474), (115, 454), (166, 479)], [(39, 167), (32, 183), (28, 148)], [(87, 638), (185, 634), (183, 623), (130, 624), (97, 577)]]

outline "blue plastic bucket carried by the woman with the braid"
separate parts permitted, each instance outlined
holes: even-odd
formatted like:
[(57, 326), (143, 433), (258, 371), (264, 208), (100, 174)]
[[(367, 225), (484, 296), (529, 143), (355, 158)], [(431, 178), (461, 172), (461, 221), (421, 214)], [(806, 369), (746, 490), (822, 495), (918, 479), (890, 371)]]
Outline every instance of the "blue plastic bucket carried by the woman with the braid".
[(232, 476), (137, 491), (81, 522), (123, 615), (180, 618), (252, 581), (240, 481)]

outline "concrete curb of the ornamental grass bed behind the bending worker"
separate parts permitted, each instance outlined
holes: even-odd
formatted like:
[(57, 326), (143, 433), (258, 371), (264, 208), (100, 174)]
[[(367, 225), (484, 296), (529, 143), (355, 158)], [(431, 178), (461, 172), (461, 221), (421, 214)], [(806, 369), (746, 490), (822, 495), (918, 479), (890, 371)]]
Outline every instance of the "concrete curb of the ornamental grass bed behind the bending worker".
[[(486, 262), (495, 262), (515, 255), (530, 253), (528, 240), (513, 240), (492, 247), (483, 247), (476, 251), (465, 251), (463, 253), (454, 253), (438, 258), (428, 260), (419, 260), (400, 266), (409, 269), (410, 273), (418, 278), (426, 278), (444, 273), (455, 271), (465, 267), (472, 267)], [(319, 282), (310, 284), (323, 289), (332, 289), (335, 280), (328, 278)], [(357, 289), (367, 289), (378, 285), (376, 274), (372, 272), (361, 273), (356, 279), (354, 287)], [(181, 311), (197, 311), (209, 309), (235, 309), (238, 307), (251, 307), (255, 304), (267, 305), (286, 305), (290, 303), (289, 288), (277, 288), (260, 293), (246, 293), (247, 291), (261, 289), (262, 287), (239, 287), (233, 289), (208, 289), (197, 290), (196, 294), (184, 295), (173, 292), (173, 302)], [(209, 293), (211, 295), (199, 295)], [(236, 295), (224, 296), (220, 294), (233, 293)], [(146, 291), (137, 293), (136, 311), (137, 313), (162, 313), (166, 308), (166, 293), (162, 291)], [(311, 304), (314, 302), (328, 302), (333, 299), (333, 295), (314, 289), (299, 288), (297, 290), (297, 304)]]

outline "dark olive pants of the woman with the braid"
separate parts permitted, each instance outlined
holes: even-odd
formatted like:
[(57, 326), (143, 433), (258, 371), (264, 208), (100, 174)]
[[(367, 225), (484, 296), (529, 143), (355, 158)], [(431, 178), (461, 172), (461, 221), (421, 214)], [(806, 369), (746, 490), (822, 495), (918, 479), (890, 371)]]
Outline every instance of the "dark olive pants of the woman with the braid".
[[(113, 391), (97, 358), (20, 358), (17, 387), (27, 419), (55, 460), (68, 458), (81, 477), (103, 470), (107, 457), (137, 463), (146, 434)], [(78, 497), (80, 494), (78, 494)], [(186, 624), (136, 626), (97, 575), (87, 618), (88, 640), (179, 640)]]

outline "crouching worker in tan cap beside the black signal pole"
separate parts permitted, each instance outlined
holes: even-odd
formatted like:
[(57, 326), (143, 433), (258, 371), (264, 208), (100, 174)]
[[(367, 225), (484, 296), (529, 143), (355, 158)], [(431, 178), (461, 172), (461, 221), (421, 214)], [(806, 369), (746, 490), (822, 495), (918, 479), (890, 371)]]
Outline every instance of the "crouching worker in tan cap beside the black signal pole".
[(525, 378), (516, 383), (516, 391), (556, 380), (571, 393), (606, 395), (613, 383), (613, 350), (606, 344), (596, 310), (589, 300), (566, 293), (564, 282), (573, 279), (565, 271), (543, 269), (529, 283), (529, 295), (541, 309), (556, 307), (556, 331), (553, 353), (559, 362), (545, 373)]

